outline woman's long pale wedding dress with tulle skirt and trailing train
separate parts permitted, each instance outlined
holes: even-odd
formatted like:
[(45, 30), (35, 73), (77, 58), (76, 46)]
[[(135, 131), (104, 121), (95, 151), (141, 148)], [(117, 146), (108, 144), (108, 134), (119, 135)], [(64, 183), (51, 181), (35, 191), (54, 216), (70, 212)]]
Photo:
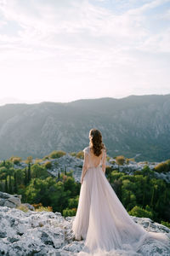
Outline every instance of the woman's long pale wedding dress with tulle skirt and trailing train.
[(122, 206), (102, 171), (106, 159), (105, 150), (102, 149), (102, 159), (100, 158), (96, 167), (90, 148), (84, 148), (83, 151), (86, 154), (83, 166), (88, 166), (88, 169), (83, 178), (77, 214), (72, 223), (74, 235), (84, 239), (84, 248), (78, 254), (105, 255), (105, 252), (113, 252), (109, 255), (116, 255), (116, 252), (128, 251), (128, 255), (133, 255), (147, 237), (167, 242), (166, 235), (148, 232), (136, 224)]

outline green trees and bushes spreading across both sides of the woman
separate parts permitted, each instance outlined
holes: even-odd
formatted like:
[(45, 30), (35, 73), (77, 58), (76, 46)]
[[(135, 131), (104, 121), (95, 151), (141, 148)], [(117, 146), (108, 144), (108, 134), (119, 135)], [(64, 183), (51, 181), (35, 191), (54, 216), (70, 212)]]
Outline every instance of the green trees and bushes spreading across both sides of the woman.
[[(26, 168), (15, 169), (14, 158), (16, 157), (0, 163), (1, 191), (22, 195), (22, 201), (32, 204), (37, 211), (61, 212), (63, 216), (76, 214), (81, 184), (75, 181), (73, 171), (63, 170), (57, 177), (52, 177), (47, 171), (51, 167), (48, 158), (46, 163), (41, 165), (32, 163), (31, 157), (26, 160)], [(119, 161), (119, 164), (128, 163), (123, 157), (116, 161)], [(167, 160), (164, 168), (158, 165), (154, 171), (167, 172), (169, 163), (170, 160)], [(145, 165), (141, 171), (128, 175), (106, 166), (105, 176), (129, 214), (151, 218), (169, 227), (170, 183), (157, 179), (154, 171)], [(22, 205), (20, 210), (27, 211)]]

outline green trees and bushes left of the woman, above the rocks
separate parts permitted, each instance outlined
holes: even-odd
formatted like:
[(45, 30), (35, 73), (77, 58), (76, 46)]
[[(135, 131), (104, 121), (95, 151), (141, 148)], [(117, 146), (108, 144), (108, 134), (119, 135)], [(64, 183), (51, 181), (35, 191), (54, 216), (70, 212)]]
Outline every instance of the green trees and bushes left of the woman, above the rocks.
[[(77, 211), (81, 184), (75, 182), (73, 171), (64, 171), (58, 177), (51, 177), (47, 167), (29, 162), (26, 168), (14, 169), (12, 160), (3, 160), (0, 163), (0, 190), (22, 195), (23, 202), (41, 204), (37, 211), (61, 212), (66, 216), (69, 210), (72, 215), (71, 212)], [(20, 209), (26, 211), (24, 206)]]

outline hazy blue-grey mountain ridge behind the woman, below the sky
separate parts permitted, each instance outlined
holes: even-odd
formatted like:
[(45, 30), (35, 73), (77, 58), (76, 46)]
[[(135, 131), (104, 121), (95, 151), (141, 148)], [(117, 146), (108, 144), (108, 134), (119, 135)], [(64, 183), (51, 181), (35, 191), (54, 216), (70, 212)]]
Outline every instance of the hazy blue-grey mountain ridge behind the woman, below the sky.
[(167, 160), (169, 113), (170, 95), (8, 104), (0, 107), (0, 160), (11, 155), (41, 158), (54, 149), (80, 151), (94, 127), (102, 132), (112, 157)]

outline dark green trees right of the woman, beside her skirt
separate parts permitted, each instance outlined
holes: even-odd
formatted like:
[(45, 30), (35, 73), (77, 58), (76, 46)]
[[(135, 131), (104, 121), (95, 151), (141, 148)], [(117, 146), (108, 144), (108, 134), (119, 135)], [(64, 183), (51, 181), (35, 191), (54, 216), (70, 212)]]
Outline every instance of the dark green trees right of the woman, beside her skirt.
[(107, 166), (105, 175), (129, 214), (169, 222), (170, 183), (154, 177), (149, 166), (145, 165), (134, 175)]

